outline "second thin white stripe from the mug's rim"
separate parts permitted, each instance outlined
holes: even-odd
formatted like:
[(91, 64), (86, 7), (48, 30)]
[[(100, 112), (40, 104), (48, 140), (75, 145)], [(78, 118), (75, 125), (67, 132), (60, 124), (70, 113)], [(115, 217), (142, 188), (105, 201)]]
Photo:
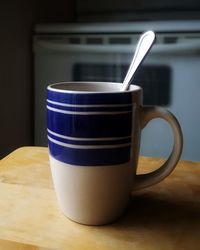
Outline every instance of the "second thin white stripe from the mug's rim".
[(88, 111), (88, 112), (79, 112), (79, 111), (68, 111), (68, 110), (62, 110), (62, 109), (56, 109), (56, 108), (52, 108), (50, 106), (47, 105), (47, 109), (54, 111), (54, 112), (58, 112), (58, 113), (62, 113), (62, 114), (71, 114), (71, 115), (116, 115), (116, 114), (128, 114), (131, 113), (132, 111)]

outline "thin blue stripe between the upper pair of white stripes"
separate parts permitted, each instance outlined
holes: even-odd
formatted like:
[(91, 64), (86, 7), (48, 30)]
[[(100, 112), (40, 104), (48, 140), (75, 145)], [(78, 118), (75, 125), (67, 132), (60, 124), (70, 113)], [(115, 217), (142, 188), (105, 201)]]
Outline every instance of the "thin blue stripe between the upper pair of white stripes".
[(58, 104), (52, 104), (47, 102), (47, 105), (52, 108), (74, 111), (74, 112), (123, 112), (123, 111), (131, 111), (132, 105), (124, 106), (124, 107), (66, 107)]

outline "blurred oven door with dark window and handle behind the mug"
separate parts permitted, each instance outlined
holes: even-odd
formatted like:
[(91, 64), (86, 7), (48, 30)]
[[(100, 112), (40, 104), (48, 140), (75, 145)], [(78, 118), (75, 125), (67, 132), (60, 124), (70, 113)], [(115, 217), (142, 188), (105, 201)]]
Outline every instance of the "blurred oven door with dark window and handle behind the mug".
[[(134, 51), (133, 45), (69, 45), (64, 42), (35, 43), (35, 144), (46, 145), (45, 90), (60, 81), (122, 82)], [(199, 43), (155, 44), (133, 83), (144, 91), (144, 105), (172, 111), (183, 129), (182, 158), (200, 160), (200, 60)], [(143, 130), (141, 154), (167, 157), (172, 134), (162, 121)]]

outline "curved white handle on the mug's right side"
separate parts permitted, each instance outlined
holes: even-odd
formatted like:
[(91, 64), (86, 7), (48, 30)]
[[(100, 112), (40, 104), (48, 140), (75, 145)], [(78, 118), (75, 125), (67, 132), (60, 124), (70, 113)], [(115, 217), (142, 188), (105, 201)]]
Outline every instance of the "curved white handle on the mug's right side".
[(147, 174), (139, 174), (135, 176), (133, 190), (149, 187), (166, 178), (174, 170), (176, 164), (178, 163), (183, 148), (183, 135), (181, 127), (172, 113), (157, 107), (141, 107), (140, 115), (141, 129), (143, 129), (147, 123), (154, 118), (162, 118), (167, 121), (172, 128), (174, 145), (169, 158), (160, 168)]

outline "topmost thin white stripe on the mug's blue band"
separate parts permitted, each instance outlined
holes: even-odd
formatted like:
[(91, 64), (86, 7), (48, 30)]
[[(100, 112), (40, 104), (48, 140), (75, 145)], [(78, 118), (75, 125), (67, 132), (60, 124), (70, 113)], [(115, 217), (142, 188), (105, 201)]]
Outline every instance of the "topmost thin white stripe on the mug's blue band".
[(74, 107), (74, 108), (98, 108), (98, 107), (131, 107), (132, 104), (91, 104), (91, 105), (81, 105), (81, 104), (69, 104), (62, 102), (55, 102), (47, 99), (48, 103), (63, 106), (63, 107)]

